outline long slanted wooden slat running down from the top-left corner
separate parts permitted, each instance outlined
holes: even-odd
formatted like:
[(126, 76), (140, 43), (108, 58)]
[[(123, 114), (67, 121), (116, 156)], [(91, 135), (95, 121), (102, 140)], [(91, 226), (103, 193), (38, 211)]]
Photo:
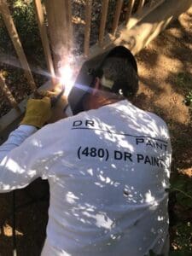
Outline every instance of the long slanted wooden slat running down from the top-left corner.
[(26, 61), (26, 55), (20, 43), (20, 38), (16, 31), (14, 21), (10, 15), (8, 4), (5, 0), (0, 0), (0, 13), (3, 16), (3, 21), (5, 23), (5, 26), (8, 29), (9, 37), (11, 38), (14, 44), (15, 51), (19, 57), (21, 67), (24, 69), (26, 79), (30, 84), (32, 90), (36, 90), (36, 85), (32, 77), (32, 72), (30, 70), (28, 62)]

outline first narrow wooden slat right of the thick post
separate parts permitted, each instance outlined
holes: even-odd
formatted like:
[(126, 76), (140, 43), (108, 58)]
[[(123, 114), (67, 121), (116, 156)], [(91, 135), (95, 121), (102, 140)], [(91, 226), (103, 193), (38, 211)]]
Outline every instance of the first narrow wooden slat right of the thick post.
[(90, 23), (91, 23), (91, 7), (92, 0), (86, 0), (85, 6), (85, 26), (84, 26), (84, 55), (89, 55), (90, 49)]

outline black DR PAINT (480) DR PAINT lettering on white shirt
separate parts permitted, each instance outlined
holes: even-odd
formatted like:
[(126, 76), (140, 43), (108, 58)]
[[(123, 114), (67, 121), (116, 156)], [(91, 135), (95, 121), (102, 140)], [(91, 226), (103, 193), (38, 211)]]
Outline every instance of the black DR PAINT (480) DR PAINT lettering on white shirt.
[[(77, 156), (79, 160), (85, 158), (92, 158), (98, 160), (113, 160), (114, 162), (124, 161), (126, 163), (138, 165), (149, 165), (157, 168), (162, 168), (166, 164), (165, 154), (168, 150), (168, 143), (158, 137), (150, 137), (147, 135), (137, 136), (134, 134), (126, 133), (123, 131), (111, 131), (110, 125), (99, 124), (95, 120), (91, 119), (77, 119), (73, 121), (72, 130), (84, 130), (84, 131), (103, 131), (107, 132), (114, 137), (127, 137), (127, 142), (134, 147), (134, 150), (126, 150), (122, 148), (106, 148), (106, 147), (92, 147), (89, 144), (79, 146), (77, 148)], [(153, 149), (141, 151), (141, 148)], [(146, 152), (141, 154), (140, 152)], [(148, 152), (150, 152), (148, 154)]]

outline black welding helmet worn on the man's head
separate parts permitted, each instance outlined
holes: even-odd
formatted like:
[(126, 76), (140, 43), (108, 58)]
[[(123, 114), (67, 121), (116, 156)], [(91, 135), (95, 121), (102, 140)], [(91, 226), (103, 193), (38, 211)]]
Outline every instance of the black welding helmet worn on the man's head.
[[(80, 69), (73, 89), (68, 96), (69, 106), (73, 114), (84, 111), (84, 96), (92, 91), (92, 87), (94, 87), (95, 85), (96, 77), (102, 79), (102, 67), (104, 65), (104, 62), (109, 57), (126, 59), (137, 73), (137, 62), (135, 60), (135, 57), (131, 54), (131, 51), (124, 46), (116, 46), (102, 55), (98, 55), (89, 61), (85, 61), (84, 65)], [(119, 84), (117, 86), (117, 83), (114, 83), (112, 91), (116, 93), (116, 89), (119, 88), (119, 86), (121, 85)]]

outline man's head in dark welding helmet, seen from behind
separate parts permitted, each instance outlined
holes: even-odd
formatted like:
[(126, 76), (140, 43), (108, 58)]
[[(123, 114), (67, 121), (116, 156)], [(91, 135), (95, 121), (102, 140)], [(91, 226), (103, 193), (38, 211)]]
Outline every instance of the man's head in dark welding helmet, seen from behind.
[(137, 62), (129, 49), (115, 47), (102, 56), (89, 87), (85, 86), (84, 89), (83, 85), (81, 89), (82, 84), (75, 85), (69, 96), (74, 114), (123, 98), (131, 99), (138, 90)]

